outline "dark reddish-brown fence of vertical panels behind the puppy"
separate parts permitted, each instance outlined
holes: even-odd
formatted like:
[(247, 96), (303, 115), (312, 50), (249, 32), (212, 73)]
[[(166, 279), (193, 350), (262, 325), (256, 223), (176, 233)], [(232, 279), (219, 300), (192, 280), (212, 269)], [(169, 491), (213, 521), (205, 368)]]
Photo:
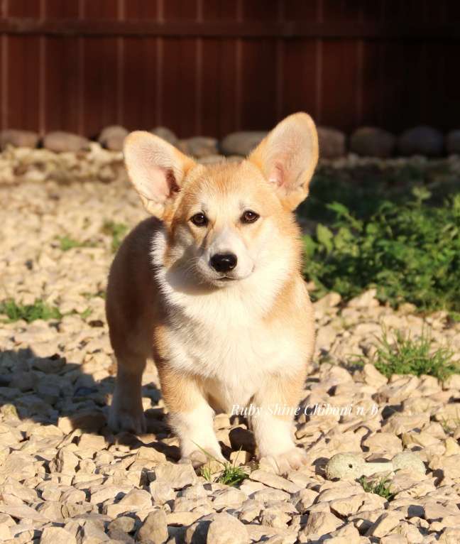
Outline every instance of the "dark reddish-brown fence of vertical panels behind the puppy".
[(0, 0), (0, 126), (460, 127), (459, 0)]

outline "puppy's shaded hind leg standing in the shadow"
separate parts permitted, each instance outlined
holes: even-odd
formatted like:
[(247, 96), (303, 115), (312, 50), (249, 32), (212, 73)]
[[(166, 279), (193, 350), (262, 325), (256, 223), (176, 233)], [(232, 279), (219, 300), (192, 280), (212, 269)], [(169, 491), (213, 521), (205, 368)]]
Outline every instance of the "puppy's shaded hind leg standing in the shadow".
[(142, 407), (142, 374), (146, 359), (139, 354), (117, 355), (114, 396), (109, 411), (109, 427), (118, 432), (146, 433)]

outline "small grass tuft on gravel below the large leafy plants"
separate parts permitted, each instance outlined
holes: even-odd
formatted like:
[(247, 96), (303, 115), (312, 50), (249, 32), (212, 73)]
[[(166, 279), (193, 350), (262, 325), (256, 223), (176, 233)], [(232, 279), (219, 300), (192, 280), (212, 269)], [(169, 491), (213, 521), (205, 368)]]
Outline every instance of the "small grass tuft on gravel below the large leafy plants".
[[(397, 331), (389, 337), (386, 331), (376, 342), (376, 352), (370, 362), (388, 378), (392, 374), (428, 374), (439, 380), (460, 372), (459, 364), (452, 361), (453, 352), (447, 347), (432, 349), (431, 339), (422, 334), (412, 338)], [(364, 357), (358, 358), (361, 363)]]

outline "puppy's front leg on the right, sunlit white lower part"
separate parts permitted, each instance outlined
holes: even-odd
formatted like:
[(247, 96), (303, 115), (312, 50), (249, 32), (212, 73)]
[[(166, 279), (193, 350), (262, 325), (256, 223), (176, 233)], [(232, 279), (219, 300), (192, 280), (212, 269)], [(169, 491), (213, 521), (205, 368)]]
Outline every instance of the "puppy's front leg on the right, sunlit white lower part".
[(305, 451), (295, 446), (292, 420), (300, 401), (305, 373), (286, 379), (271, 376), (253, 397), (256, 413), (251, 428), (258, 457), (265, 457), (278, 474), (286, 474), (305, 463)]

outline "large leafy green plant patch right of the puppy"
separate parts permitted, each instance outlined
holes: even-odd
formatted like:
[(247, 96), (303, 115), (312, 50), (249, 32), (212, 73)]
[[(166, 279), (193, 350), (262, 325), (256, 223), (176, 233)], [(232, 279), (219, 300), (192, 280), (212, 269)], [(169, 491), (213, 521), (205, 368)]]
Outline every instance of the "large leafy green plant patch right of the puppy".
[(333, 290), (349, 300), (375, 287), (380, 302), (393, 307), (409, 302), (420, 311), (444, 309), (457, 316), (460, 194), (437, 205), (430, 199), (419, 187), (403, 202), (368, 203), (372, 210), (325, 204), (332, 222), (318, 223), (304, 237), (304, 274), (317, 286), (313, 297)]

